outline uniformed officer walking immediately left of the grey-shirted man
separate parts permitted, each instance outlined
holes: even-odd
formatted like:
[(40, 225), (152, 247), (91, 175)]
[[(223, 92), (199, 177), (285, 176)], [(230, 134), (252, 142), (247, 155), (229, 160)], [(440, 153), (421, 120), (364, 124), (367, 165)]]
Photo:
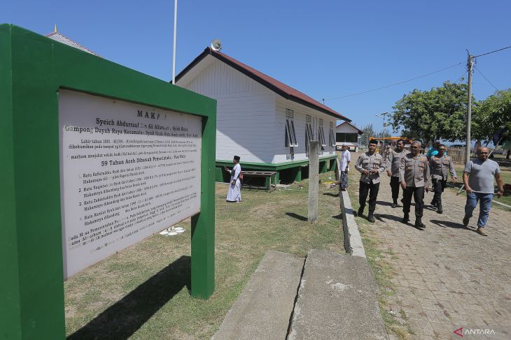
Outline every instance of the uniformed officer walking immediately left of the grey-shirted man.
[(436, 147), (438, 154), (432, 155), (429, 160), (429, 168), (431, 172), (432, 189), (435, 195), (431, 205), (437, 207), (437, 213), (442, 214), (442, 193), (444, 192), (445, 185), (447, 184), (447, 169), (451, 172), (451, 178), (456, 181), (456, 170), (454, 170), (454, 163), (451, 157), (445, 154), (445, 145), (440, 144)]

